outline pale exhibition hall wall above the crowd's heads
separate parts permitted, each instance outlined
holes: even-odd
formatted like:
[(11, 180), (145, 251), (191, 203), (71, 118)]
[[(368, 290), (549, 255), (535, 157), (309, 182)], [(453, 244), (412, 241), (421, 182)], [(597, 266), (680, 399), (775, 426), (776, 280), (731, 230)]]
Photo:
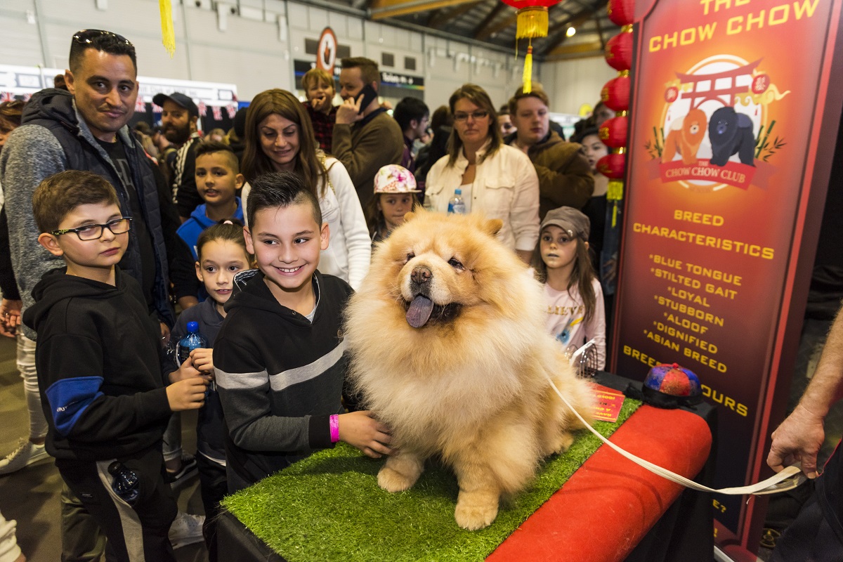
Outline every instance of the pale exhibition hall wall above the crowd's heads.
[[(285, 0), (173, 1), (176, 51), (161, 44), (157, 0), (3, 0), (0, 3), (0, 64), (67, 67), (71, 35), (84, 28), (125, 35), (137, 48), (138, 73), (156, 78), (234, 83), (240, 99), (267, 88), (295, 89), (294, 62), (314, 60), (306, 51), (326, 26), (351, 56), (368, 56), (382, 72), (421, 78), (408, 88), (423, 92), (431, 108), (448, 101), (459, 85), (480, 84), (503, 104), (521, 83), (524, 53), (368, 21), (322, 5)], [(522, 50), (523, 51), (523, 50)], [(342, 54), (342, 53), (341, 53)], [(392, 66), (384, 64), (391, 60)], [(551, 110), (577, 114), (594, 104), (615, 76), (602, 57), (534, 63)], [(0, 84), (2, 87), (2, 84)], [(399, 97), (400, 90), (393, 90)]]

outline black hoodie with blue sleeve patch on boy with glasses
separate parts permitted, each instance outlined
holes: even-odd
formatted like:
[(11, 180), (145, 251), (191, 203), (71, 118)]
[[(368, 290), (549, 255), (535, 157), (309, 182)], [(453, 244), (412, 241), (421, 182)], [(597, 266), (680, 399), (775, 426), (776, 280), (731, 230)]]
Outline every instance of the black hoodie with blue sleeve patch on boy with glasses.
[(35, 367), (53, 457), (95, 461), (158, 444), (169, 415), (158, 325), (141, 287), (51, 270), (24, 323), (38, 333)]

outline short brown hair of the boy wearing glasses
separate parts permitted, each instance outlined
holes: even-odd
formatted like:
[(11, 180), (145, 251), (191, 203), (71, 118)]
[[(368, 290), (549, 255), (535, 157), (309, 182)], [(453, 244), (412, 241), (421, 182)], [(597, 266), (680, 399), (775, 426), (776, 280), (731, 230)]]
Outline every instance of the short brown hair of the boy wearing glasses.
[(117, 192), (101, 175), (65, 170), (44, 179), (32, 194), (32, 214), (41, 233), (51, 233), (80, 205), (120, 206)]

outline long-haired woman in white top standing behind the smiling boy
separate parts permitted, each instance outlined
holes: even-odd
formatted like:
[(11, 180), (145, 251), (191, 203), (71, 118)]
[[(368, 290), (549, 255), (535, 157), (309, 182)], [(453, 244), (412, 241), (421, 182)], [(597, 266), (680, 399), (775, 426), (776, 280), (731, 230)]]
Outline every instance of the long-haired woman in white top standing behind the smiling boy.
[[(287, 90), (257, 94), (246, 111), (244, 140), (242, 172), (247, 182), (260, 174), (288, 170), (311, 187), (330, 229), (330, 245), (319, 255), (319, 271), (357, 289), (371, 260), (366, 219), (346, 168), (319, 150), (302, 103)], [(249, 190), (247, 183), (242, 194), (244, 217)]]

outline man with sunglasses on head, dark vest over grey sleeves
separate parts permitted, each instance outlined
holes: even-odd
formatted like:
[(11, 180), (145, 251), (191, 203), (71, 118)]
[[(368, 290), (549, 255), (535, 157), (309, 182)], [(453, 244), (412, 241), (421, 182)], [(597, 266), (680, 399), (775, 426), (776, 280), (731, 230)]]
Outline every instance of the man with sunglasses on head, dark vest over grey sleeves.
[[(0, 184), (23, 309), (33, 305), (31, 292), (41, 276), (62, 266), (62, 260), (37, 243), (32, 194), (52, 174), (90, 171), (115, 186), (121, 212), (132, 217), (128, 247), (119, 265), (142, 287), (148, 312), (166, 339), (175, 323), (169, 304), (171, 277), (183, 308), (196, 303), (197, 286), (183, 270), (176, 279), (179, 269), (173, 265), (181, 260), (189, 265), (190, 249), (175, 234), (179, 220), (163, 178), (156, 176), (157, 169), (126, 126), (138, 92), (135, 48), (121, 35), (83, 29), (72, 37), (69, 67), (65, 72), (69, 92), (48, 88), (34, 94), (24, 108), (21, 126), (9, 135), (0, 153)], [(35, 332), (22, 328), (28, 343), (24, 362), (35, 370)], [(24, 457), (4, 459), (8, 471), (23, 468), (34, 455)]]

